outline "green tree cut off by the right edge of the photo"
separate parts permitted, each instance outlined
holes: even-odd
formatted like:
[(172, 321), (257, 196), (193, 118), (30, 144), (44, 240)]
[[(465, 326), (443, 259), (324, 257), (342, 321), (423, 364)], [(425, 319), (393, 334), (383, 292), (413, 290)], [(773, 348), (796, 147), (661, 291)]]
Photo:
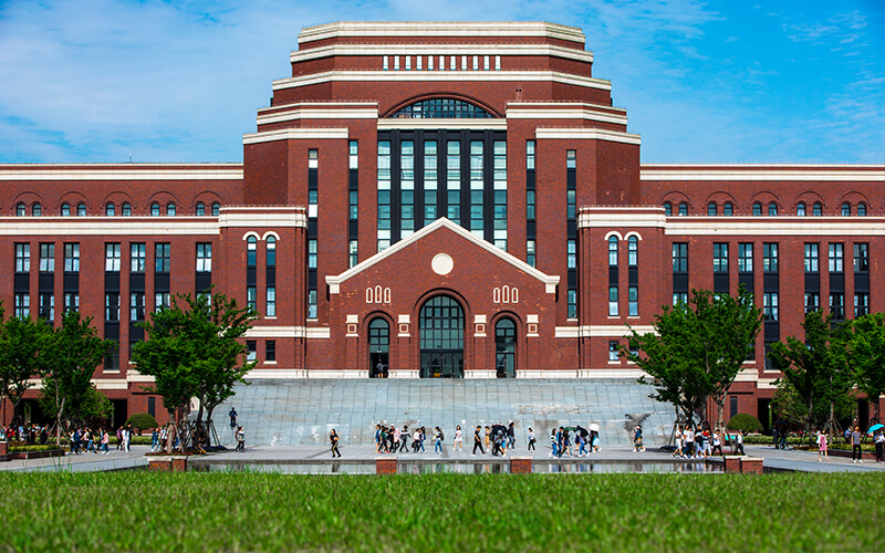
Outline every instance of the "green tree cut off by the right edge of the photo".
[(878, 422), (878, 398), (885, 394), (885, 314), (870, 313), (855, 319), (848, 331), (848, 362), (854, 368), (857, 389), (873, 405), (873, 420)]

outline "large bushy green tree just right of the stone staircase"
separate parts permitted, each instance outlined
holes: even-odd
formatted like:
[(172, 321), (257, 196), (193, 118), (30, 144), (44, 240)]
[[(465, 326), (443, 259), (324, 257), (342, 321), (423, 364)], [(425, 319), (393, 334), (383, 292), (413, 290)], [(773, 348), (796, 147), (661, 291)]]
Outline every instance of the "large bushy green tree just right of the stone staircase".
[(701, 409), (706, 422), (704, 407), (712, 399), (721, 427), (726, 394), (753, 351), (761, 311), (743, 286), (735, 298), (693, 290), (688, 303), (662, 309), (654, 332), (639, 334), (627, 325), (632, 334), (621, 355), (653, 377), (639, 379), (657, 388), (650, 397), (676, 405), (689, 420)]

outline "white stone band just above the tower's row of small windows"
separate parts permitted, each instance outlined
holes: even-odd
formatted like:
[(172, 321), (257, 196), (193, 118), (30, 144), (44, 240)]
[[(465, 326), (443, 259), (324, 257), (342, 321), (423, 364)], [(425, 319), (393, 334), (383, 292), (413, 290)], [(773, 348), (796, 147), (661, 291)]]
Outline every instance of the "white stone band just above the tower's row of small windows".
[[(304, 62), (308, 60), (317, 60), (329, 56), (350, 56), (350, 55), (420, 55), (434, 56), (440, 55), (539, 55), (550, 58), (562, 58), (566, 60), (577, 60), (582, 62), (593, 63), (593, 52), (586, 50), (577, 50), (574, 48), (558, 46), (552, 44), (427, 44), (427, 43), (413, 43), (413, 44), (329, 44), (320, 48), (309, 48), (306, 50), (293, 50), (289, 54), (290, 63)], [(417, 67), (416, 67), (417, 69)], [(388, 70), (392, 71), (392, 70)], [(417, 69), (417, 71), (421, 71)], [(440, 71), (425, 70), (425, 71)], [(445, 70), (442, 70), (445, 71)], [(488, 70), (473, 70), (473, 71), (494, 71), (491, 67)]]

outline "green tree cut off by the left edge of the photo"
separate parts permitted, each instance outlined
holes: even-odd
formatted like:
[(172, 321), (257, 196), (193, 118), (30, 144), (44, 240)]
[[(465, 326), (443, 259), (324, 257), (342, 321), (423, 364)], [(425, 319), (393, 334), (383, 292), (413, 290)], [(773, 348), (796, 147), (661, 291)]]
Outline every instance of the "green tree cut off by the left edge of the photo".
[(0, 305), (0, 411), (3, 411), (3, 401), (9, 397), (13, 424), (24, 393), (43, 371), (45, 358), (41, 352), (51, 335), (52, 326), (43, 321), (20, 317), (4, 321)]

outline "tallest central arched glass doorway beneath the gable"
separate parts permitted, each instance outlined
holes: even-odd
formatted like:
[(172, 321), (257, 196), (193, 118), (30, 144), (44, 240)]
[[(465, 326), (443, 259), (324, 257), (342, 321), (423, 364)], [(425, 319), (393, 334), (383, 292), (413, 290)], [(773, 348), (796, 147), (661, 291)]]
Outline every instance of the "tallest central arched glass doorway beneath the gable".
[(464, 310), (437, 295), (420, 312), (421, 378), (464, 378)]

